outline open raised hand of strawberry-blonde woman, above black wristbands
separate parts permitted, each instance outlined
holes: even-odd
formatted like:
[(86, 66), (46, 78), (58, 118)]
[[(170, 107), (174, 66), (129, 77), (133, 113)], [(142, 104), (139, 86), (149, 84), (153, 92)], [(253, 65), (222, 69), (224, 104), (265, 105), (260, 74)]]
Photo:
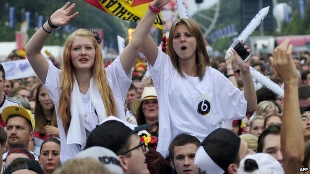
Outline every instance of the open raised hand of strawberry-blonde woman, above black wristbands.
[(51, 22), (55, 26), (63, 26), (69, 23), (69, 21), (78, 15), (78, 12), (72, 14), (76, 7), (73, 3), (70, 6), (70, 2), (67, 2), (63, 7), (56, 10), (50, 17)]

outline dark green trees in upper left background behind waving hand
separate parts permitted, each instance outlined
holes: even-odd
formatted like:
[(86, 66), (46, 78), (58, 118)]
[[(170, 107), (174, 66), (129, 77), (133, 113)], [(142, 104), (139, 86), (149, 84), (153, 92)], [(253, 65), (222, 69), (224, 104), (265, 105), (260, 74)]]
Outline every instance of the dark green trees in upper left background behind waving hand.
[[(23, 12), (31, 12), (31, 27), (28, 30), (28, 35), (32, 36), (35, 32), (36, 16), (44, 15), (46, 21), (47, 16), (50, 16), (55, 10), (62, 7), (66, 1), (64, 0), (2, 0), (4, 5), (0, 6), (0, 42), (11, 42), (15, 40), (15, 32), (20, 30), (20, 24), (23, 20)], [(86, 29), (103, 29), (104, 31), (104, 43), (106, 46), (117, 48), (117, 35), (125, 37), (127, 35), (126, 30), (121, 26), (121, 19), (111, 16), (92, 5), (88, 4), (84, 0), (72, 0), (72, 3), (76, 3), (75, 11), (79, 12), (79, 15), (70, 21), (69, 25), (73, 29), (86, 28)], [(8, 6), (15, 7), (15, 25), (13, 28), (9, 28), (7, 23)], [(127, 25), (127, 22), (125, 22)], [(65, 27), (61, 27), (54, 31), (49, 37), (46, 45), (62, 45), (65, 39), (72, 31), (65, 31)]]

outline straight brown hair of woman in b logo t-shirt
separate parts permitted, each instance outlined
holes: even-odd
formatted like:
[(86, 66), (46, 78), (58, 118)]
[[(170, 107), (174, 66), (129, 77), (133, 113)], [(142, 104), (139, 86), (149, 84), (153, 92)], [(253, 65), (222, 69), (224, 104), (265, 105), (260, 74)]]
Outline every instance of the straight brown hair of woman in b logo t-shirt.
[(173, 66), (176, 68), (178, 73), (184, 77), (182, 69), (180, 67), (179, 59), (175, 51), (173, 50), (173, 33), (178, 25), (186, 25), (191, 32), (191, 34), (197, 39), (197, 47), (196, 47), (196, 73), (199, 77), (199, 80), (202, 80), (203, 76), (206, 72), (206, 67), (210, 65), (210, 58), (207, 53), (207, 49), (205, 46), (205, 41), (202, 35), (202, 32), (199, 26), (192, 20), (189, 19), (177, 19), (174, 21), (170, 28), (169, 40), (168, 40), (168, 48), (167, 54), (171, 58), (171, 62)]

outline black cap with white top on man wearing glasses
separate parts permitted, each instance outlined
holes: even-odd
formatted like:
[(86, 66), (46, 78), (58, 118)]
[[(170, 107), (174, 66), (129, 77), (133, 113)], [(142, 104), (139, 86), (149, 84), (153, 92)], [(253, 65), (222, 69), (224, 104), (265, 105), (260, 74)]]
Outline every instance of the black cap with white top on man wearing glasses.
[(149, 124), (134, 127), (120, 118), (109, 116), (90, 132), (85, 149), (92, 146), (101, 146), (117, 153), (133, 133), (149, 128)]

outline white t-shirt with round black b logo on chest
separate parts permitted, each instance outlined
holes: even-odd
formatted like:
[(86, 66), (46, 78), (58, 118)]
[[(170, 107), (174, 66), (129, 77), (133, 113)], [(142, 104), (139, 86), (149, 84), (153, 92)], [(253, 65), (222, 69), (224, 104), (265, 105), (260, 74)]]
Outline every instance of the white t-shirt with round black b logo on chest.
[(212, 67), (206, 67), (202, 81), (185, 73), (182, 77), (160, 48), (154, 66), (148, 67), (158, 95), (157, 151), (164, 157), (178, 134), (187, 133), (202, 141), (218, 127), (231, 129), (229, 122), (246, 114), (243, 92)]

